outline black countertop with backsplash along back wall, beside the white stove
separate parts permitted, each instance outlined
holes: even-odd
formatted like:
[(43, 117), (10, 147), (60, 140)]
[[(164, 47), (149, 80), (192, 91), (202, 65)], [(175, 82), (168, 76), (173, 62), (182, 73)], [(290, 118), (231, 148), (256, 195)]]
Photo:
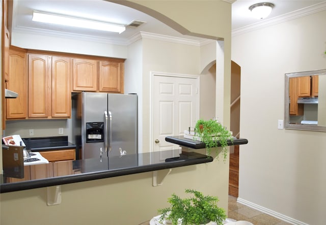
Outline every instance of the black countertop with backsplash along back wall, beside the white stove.
[(68, 142), (68, 136), (22, 138), (27, 150), (48, 151), (76, 148), (76, 145)]

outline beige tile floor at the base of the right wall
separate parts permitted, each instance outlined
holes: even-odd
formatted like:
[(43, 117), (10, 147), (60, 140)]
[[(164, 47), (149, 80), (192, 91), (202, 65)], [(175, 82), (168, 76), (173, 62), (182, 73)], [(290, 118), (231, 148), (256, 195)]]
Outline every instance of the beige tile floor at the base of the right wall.
[[(229, 196), (228, 218), (235, 220), (245, 220), (254, 225), (287, 225), (290, 223), (284, 222), (278, 218), (267, 215), (248, 206), (236, 202), (236, 198)], [(148, 225), (149, 221), (140, 225)]]

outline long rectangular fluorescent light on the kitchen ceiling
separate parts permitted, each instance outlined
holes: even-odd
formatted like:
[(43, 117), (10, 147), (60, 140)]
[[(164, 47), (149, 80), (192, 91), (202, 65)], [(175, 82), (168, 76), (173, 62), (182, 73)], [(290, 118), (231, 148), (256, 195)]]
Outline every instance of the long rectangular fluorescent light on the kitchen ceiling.
[(111, 31), (117, 32), (119, 34), (121, 34), (126, 29), (126, 27), (121, 24), (37, 11), (33, 12), (32, 20), (44, 23)]

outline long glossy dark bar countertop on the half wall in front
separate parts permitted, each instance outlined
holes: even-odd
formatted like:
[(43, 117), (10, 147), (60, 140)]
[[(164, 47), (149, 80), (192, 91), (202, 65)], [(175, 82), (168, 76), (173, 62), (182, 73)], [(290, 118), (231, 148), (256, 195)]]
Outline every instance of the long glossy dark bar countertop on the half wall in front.
[[(49, 172), (46, 173), (47, 177), (38, 177), (38, 179), (28, 180), (25, 180), (27, 179), (25, 177), (22, 179), (22, 181), (9, 183), (9, 179), (3, 174), (1, 174), (0, 192), (4, 193), (39, 187), (82, 182), (88, 180), (96, 180), (108, 177), (157, 171), (163, 169), (209, 163), (213, 160), (211, 156), (207, 156), (204, 154), (199, 154), (196, 152), (182, 152), (181, 154), (179, 154), (178, 151), (179, 150), (168, 150), (160, 152), (122, 155), (110, 158), (92, 158), (84, 160), (73, 160), (25, 166), (24, 170), (35, 170), (40, 168), (43, 168), (43, 170), (45, 170), (46, 167), (47, 172), (51, 170), (54, 171), (53, 168), (67, 168), (67, 170), (61, 171), (61, 174), (64, 173), (67, 175), (55, 176), (55, 173)], [(165, 155), (166, 157), (162, 158), (162, 155)], [(44, 167), (42, 167), (42, 165), (44, 165)]]

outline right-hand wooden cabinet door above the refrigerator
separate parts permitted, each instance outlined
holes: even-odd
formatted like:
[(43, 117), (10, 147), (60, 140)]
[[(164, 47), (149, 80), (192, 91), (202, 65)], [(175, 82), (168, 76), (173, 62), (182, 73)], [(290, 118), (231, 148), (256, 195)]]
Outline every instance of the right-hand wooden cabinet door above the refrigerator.
[(99, 91), (123, 92), (123, 62), (99, 62)]

